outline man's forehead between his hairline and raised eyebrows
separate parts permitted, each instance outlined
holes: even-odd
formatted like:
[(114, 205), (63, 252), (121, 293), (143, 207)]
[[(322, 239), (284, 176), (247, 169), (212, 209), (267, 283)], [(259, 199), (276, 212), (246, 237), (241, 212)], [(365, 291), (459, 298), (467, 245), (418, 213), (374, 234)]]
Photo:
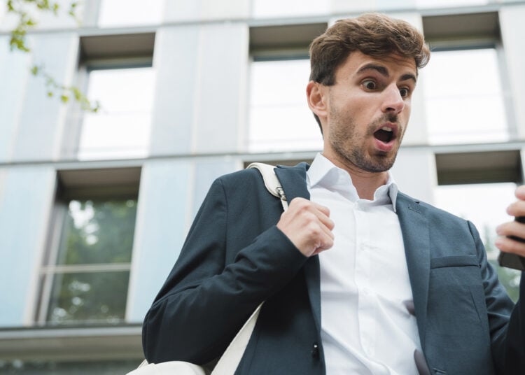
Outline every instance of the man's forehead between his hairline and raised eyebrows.
[(369, 71), (385, 73), (396, 80), (400, 77), (417, 77), (416, 62), (413, 57), (404, 57), (395, 53), (382, 57), (365, 55), (360, 51), (353, 51), (335, 71), (337, 76), (356, 76)]

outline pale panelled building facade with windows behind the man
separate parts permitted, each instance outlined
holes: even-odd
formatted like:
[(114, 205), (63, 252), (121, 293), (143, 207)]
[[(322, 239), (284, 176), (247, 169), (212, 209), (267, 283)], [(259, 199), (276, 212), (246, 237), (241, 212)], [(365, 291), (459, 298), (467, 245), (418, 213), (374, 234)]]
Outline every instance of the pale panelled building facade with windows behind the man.
[[(474, 221), (487, 248), (510, 220), (525, 1), (86, 0), (81, 23), (58, 3), (35, 13), (27, 53), (9, 50), (0, 10), (0, 373), (139, 364), (141, 321), (211, 182), (321, 150), (308, 45), (342, 17), (402, 18), (433, 50), (393, 168), (400, 190)], [(45, 74), (98, 113), (62, 103)]]

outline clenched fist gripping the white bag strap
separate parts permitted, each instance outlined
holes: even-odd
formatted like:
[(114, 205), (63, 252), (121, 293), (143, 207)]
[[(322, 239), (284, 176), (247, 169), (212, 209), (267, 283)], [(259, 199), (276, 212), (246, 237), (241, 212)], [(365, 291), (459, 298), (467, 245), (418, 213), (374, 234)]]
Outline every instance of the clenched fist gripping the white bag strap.
[(330, 210), (304, 198), (290, 201), (288, 210), (277, 222), (277, 228), (307, 257), (328, 250), (334, 244), (334, 222), (330, 219)]

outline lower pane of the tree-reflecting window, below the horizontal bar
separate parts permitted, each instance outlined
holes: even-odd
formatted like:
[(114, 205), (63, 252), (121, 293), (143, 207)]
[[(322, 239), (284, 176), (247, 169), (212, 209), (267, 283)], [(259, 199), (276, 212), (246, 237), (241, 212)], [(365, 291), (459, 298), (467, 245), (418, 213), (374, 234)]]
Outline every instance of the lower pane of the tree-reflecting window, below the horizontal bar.
[(124, 320), (129, 271), (55, 274), (48, 323), (119, 323)]

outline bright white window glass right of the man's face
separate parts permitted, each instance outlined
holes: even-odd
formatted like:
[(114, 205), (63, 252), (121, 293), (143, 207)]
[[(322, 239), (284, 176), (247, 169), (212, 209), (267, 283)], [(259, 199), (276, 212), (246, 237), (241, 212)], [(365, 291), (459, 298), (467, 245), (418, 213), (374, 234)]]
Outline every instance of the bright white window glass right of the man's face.
[(421, 75), (430, 143), (509, 139), (495, 49), (433, 52)]

